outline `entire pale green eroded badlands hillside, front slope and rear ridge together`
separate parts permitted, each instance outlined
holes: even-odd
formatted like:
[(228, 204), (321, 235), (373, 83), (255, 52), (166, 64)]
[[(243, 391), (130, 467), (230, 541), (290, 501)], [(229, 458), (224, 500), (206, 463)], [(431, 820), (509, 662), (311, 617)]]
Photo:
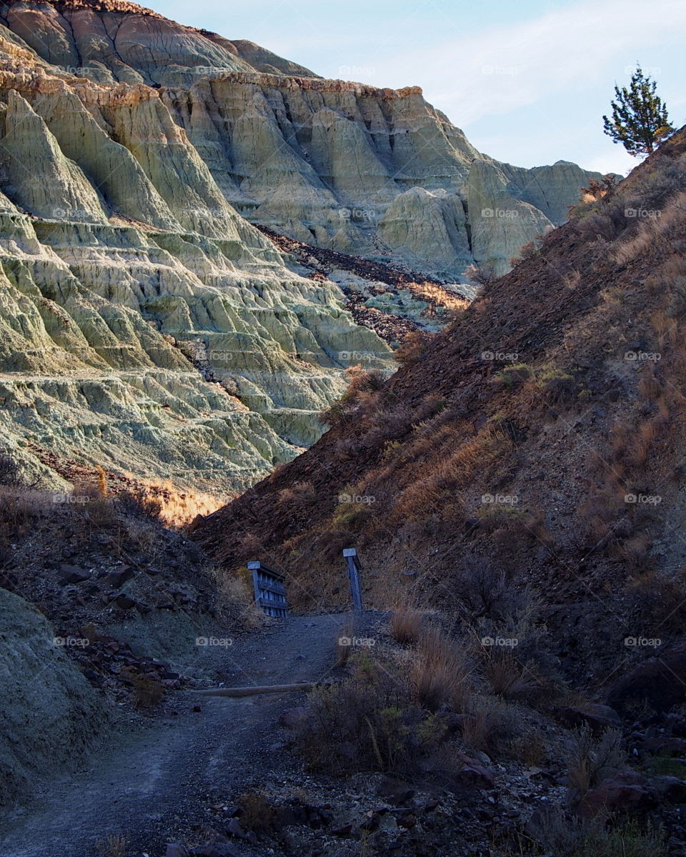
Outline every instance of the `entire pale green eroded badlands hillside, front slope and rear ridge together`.
[(504, 270), (592, 176), (498, 164), (417, 87), (324, 81), (132, 3), (0, 20), (0, 430), (53, 479), (56, 453), (242, 489), (316, 440), (347, 365), (391, 367), (249, 221), (454, 282)]

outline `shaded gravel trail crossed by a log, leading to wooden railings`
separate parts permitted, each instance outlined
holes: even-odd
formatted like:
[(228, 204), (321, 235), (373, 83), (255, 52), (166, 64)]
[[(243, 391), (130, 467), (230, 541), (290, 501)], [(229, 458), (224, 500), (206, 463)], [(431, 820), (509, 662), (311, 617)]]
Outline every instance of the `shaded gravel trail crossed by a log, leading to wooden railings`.
[[(325, 678), (334, 664), (334, 640), (344, 634), (347, 621), (347, 614), (292, 616), (237, 638), (226, 649), (226, 685)], [(165, 842), (187, 835), (214, 798), (226, 801), (251, 776), (297, 764), (275, 747), (280, 732), (274, 726), (280, 711), (302, 698), (296, 693), (203, 698), (179, 692), (150, 728), (112, 737), (105, 751), (88, 760), (87, 770), (46, 783), (33, 806), (5, 819), (0, 854), (94, 857), (99, 840), (123, 833), (131, 854), (161, 857)], [(194, 712), (194, 704), (202, 711)], [(243, 844), (240, 851), (246, 857), (260, 853)]]

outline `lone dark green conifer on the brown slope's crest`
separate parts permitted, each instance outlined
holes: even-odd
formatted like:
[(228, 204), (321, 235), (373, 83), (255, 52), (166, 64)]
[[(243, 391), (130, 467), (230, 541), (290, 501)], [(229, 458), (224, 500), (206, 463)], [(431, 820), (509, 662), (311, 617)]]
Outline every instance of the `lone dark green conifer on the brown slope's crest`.
[(612, 118), (603, 117), (605, 134), (635, 157), (653, 152), (674, 130), (664, 102), (655, 94), (656, 87), (637, 64), (629, 87), (620, 89), (615, 84), (617, 100), (611, 102)]

